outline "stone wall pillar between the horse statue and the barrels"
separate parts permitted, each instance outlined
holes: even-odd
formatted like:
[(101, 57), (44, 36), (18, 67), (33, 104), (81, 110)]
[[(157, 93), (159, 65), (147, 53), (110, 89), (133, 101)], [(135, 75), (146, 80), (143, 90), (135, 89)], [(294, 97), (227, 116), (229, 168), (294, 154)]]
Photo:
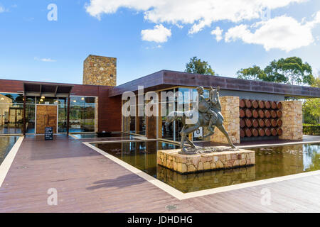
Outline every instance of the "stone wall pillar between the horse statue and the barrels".
[[(225, 118), (224, 126), (233, 143), (240, 143), (240, 118), (239, 118), (239, 97), (220, 97), (221, 114)], [(211, 136), (211, 141), (216, 143), (228, 143), (225, 135), (215, 128), (215, 134)]]

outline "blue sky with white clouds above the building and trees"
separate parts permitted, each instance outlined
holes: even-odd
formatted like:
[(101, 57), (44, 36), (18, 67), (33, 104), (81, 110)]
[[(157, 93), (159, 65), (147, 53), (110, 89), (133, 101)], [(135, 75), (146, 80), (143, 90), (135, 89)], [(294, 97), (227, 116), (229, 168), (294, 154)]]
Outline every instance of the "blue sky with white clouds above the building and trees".
[(320, 1), (264, 1), (0, 0), (0, 78), (81, 84), (90, 54), (117, 57), (117, 84), (193, 56), (227, 77), (290, 56), (320, 70)]

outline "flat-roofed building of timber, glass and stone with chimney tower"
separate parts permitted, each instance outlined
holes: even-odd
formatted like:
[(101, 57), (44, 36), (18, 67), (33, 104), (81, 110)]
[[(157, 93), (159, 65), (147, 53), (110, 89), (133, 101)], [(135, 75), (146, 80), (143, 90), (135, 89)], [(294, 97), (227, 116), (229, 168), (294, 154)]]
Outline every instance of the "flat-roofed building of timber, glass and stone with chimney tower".
[[(0, 135), (43, 134), (44, 128), (50, 126), (54, 133), (122, 131), (148, 138), (180, 140), (181, 121), (174, 121), (170, 128), (166, 128), (163, 113), (158, 116), (122, 116), (122, 94), (138, 94), (139, 86), (144, 87), (144, 93), (156, 92), (159, 99), (161, 92), (165, 91), (187, 94), (198, 86), (205, 89), (219, 86), (222, 114), (234, 143), (302, 138), (302, 103), (287, 99), (320, 97), (320, 89), (315, 87), (169, 70), (117, 86), (117, 59), (89, 55), (84, 62), (83, 84), (0, 79)], [(185, 98), (176, 96), (166, 102), (176, 110), (178, 103)], [(137, 109), (144, 109), (145, 104), (146, 101), (139, 106), (137, 100)], [(198, 140), (206, 129), (201, 130), (191, 139)], [(208, 140), (225, 143), (218, 132)]]

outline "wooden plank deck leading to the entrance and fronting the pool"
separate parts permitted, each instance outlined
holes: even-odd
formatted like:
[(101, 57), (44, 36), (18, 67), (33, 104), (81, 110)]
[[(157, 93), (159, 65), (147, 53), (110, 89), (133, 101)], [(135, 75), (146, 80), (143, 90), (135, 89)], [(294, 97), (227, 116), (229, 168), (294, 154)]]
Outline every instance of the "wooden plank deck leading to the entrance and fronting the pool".
[[(320, 175), (178, 200), (81, 142), (26, 137), (0, 188), (0, 212), (320, 211)], [(58, 206), (47, 204), (50, 188), (58, 190)], [(270, 206), (260, 201), (265, 188)]]

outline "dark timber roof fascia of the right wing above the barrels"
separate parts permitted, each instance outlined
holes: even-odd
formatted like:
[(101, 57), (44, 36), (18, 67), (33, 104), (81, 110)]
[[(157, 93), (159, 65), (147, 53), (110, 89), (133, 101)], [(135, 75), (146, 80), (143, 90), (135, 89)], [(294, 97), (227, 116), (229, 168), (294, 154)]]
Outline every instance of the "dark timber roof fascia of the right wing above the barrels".
[(269, 94), (283, 94), (284, 96), (298, 96), (301, 98), (320, 97), (320, 89), (273, 82), (260, 82), (230, 77), (217, 77), (186, 72), (162, 70), (132, 82), (119, 85), (110, 90), (110, 96), (117, 96), (123, 92), (137, 91), (138, 86), (144, 86), (144, 92), (166, 89), (169, 87), (218, 87), (225, 90), (260, 92)]

